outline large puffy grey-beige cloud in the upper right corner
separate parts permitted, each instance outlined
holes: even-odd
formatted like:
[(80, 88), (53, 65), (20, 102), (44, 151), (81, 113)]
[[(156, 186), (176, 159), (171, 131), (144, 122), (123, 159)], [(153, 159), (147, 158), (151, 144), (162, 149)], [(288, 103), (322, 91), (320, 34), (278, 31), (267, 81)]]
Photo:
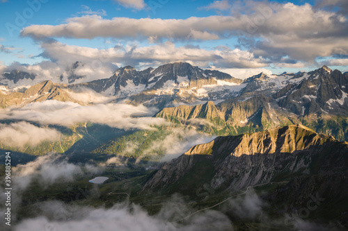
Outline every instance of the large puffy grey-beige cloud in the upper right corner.
[(347, 38), (348, 27), (347, 19), (342, 15), (317, 10), (308, 3), (303, 6), (286, 3), (276, 12), (269, 11), (269, 16), (262, 19), (267, 11), (260, 11), (264, 7), (260, 4), (255, 6), (259, 9), (258, 15), (248, 17), (252, 24), (241, 30), (241, 37), (260, 35), (264, 38), (246, 45), (255, 55), (274, 61), (289, 57), (313, 63), (317, 56), (348, 52), (347, 44), (342, 43)]

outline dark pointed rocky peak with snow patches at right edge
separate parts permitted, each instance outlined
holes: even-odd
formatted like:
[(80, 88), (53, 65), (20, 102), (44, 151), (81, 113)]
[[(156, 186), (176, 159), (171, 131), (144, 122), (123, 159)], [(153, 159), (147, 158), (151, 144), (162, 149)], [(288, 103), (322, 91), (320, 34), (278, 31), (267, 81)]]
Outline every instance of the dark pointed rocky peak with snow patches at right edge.
[(308, 76), (299, 85), (288, 85), (274, 94), (281, 108), (301, 116), (348, 113), (347, 74), (322, 67)]

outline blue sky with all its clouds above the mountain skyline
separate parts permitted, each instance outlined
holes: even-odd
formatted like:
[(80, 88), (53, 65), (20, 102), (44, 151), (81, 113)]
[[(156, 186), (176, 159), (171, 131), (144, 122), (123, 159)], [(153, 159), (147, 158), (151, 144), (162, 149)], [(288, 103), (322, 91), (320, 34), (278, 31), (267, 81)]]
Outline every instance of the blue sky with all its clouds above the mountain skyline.
[(52, 67), (47, 62), (64, 69), (77, 60), (95, 62), (97, 55), (108, 56), (105, 74), (122, 65), (176, 61), (235, 76), (324, 64), (348, 70), (345, 0), (0, 0), (0, 19), (0, 67), (6, 70), (42, 71)]

